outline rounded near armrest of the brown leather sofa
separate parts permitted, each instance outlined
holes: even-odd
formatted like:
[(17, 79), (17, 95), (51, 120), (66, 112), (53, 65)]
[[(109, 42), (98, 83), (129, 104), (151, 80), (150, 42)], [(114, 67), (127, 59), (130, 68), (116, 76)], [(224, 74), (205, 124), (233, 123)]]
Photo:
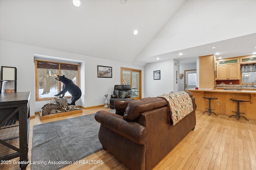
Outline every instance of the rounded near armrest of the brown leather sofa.
[(122, 116), (108, 111), (97, 111), (95, 119), (108, 129), (139, 145), (145, 145), (146, 143), (146, 129), (137, 122), (124, 120)]

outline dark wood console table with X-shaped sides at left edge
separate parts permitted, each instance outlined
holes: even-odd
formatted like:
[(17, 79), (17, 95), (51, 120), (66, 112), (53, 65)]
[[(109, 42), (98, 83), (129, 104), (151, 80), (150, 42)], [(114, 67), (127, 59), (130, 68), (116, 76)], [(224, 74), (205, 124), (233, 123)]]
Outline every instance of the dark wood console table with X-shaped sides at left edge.
[(20, 168), (28, 165), (30, 92), (0, 94), (0, 160), (20, 157)]

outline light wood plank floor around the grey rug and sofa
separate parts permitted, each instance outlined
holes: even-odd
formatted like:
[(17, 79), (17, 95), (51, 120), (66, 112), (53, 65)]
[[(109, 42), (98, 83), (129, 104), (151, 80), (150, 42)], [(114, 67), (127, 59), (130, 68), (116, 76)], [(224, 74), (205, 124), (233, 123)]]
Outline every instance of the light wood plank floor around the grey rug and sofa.
[[(83, 113), (40, 121), (39, 116), (30, 120), (29, 160), (31, 160), (33, 125), (107, 110), (103, 107), (84, 109)], [(86, 143), (85, 143), (86, 145)], [(19, 160), (15, 158), (13, 160)], [(12, 161), (13, 161), (12, 160)], [(100, 150), (84, 161), (98, 160), (103, 164), (72, 164), (62, 170), (126, 170), (126, 166), (107, 150)], [(30, 170), (30, 164), (27, 170)], [(202, 114), (196, 111), (196, 128), (169, 152), (154, 170), (256, 170), (256, 120), (226, 115)], [(0, 170), (20, 170), (19, 165), (0, 164)]]

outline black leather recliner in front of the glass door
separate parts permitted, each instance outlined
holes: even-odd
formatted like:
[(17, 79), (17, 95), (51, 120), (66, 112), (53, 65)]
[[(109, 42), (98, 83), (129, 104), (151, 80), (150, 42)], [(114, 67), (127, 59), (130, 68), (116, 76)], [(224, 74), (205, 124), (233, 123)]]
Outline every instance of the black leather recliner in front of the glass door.
[(114, 86), (114, 94), (111, 94), (110, 98), (110, 108), (114, 109), (114, 102), (116, 100), (126, 101), (131, 100), (132, 90), (131, 85), (115, 85)]

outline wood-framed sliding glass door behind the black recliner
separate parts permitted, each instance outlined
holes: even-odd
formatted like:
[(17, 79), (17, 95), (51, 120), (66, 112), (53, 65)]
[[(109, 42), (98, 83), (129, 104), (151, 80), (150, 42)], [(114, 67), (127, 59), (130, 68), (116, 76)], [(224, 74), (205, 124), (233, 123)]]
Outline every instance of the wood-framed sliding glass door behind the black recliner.
[(141, 99), (141, 70), (121, 68), (121, 83), (131, 84), (132, 99)]

